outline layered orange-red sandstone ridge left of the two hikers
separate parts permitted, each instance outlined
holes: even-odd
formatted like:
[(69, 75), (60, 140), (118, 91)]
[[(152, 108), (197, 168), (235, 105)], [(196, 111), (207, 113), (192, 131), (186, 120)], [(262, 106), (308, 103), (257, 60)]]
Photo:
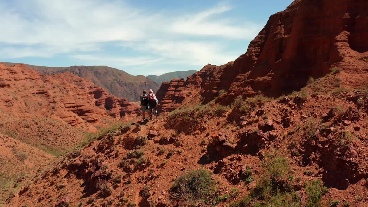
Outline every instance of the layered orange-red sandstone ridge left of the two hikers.
[(96, 131), (96, 126), (126, 122), (139, 112), (139, 106), (69, 72), (47, 76), (23, 64), (0, 63), (0, 85), (0, 109), (22, 119), (49, 117)]

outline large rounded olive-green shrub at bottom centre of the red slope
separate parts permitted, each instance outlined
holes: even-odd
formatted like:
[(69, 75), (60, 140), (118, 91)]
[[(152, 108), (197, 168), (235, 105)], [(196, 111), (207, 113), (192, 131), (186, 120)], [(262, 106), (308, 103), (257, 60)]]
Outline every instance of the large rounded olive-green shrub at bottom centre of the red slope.
[(178, 177), (171, 187), (170, 193), (176, 200), (193, 205), (196, 201), (204, 201), (213, 197), (215, 189), (212, 175), (204, 169), (199, 169), (185, 172)]

